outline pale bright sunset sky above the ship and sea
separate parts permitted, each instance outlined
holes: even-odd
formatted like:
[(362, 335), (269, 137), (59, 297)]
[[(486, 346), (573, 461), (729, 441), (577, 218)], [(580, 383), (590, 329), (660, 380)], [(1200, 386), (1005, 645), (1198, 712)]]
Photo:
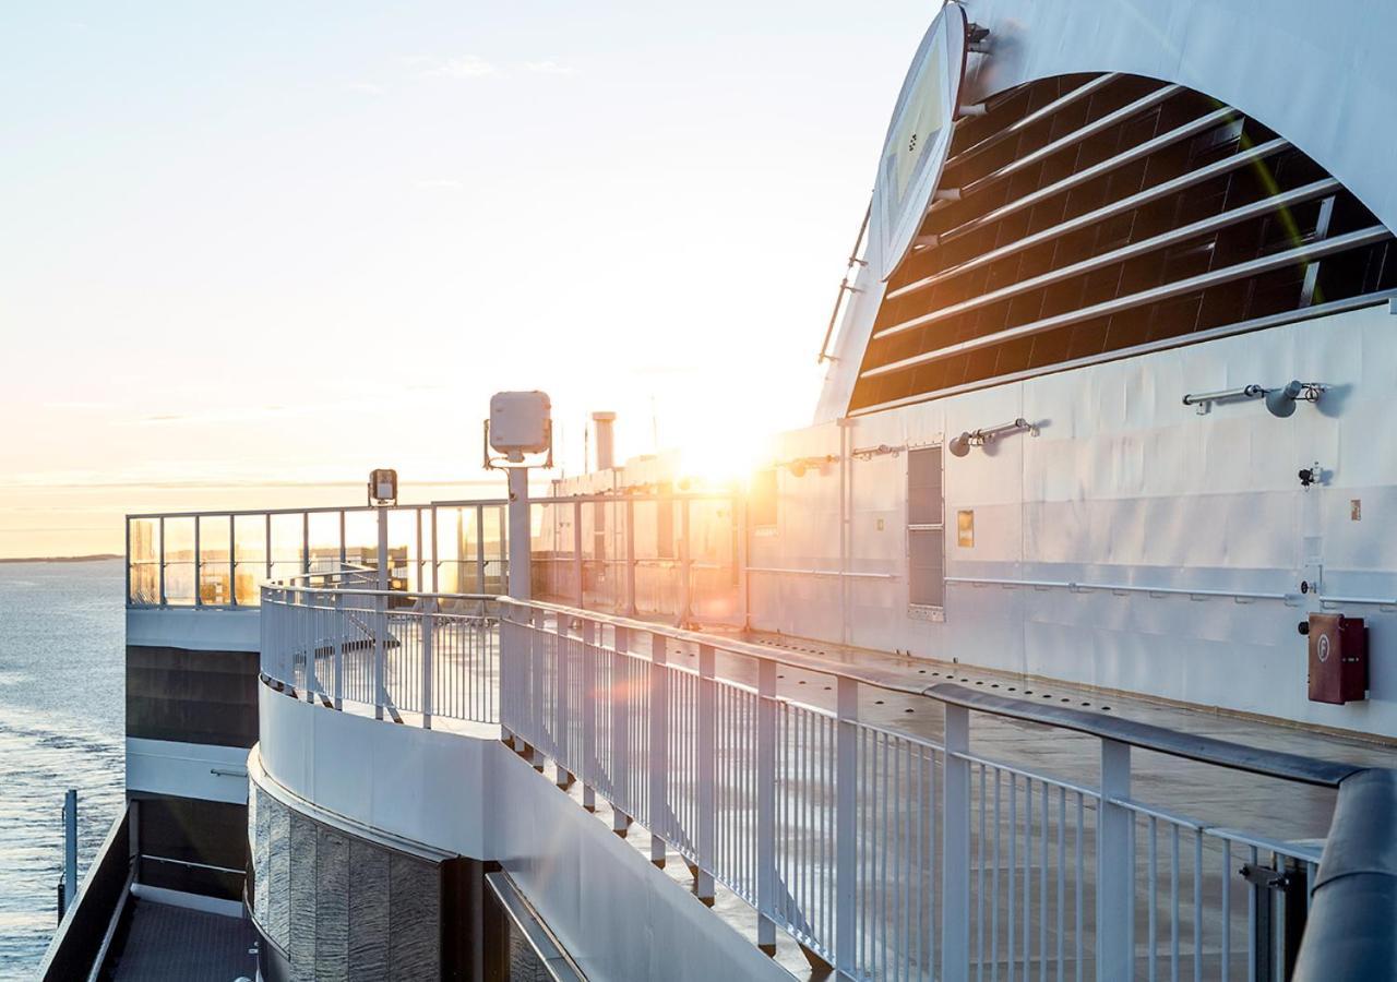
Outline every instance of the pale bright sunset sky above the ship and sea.
[(0, 6), (0, 557), (807, 423), (937, 6)]

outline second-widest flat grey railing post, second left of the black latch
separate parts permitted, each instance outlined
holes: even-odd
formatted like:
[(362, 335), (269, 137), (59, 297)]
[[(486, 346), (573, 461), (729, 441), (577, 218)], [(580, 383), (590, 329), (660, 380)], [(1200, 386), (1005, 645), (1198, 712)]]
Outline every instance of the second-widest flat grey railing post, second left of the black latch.
[(944, 708), (942, 981), (964, 982), (970, 978), (970, 761), (958, 754), (970, 753), (970, 710)]

